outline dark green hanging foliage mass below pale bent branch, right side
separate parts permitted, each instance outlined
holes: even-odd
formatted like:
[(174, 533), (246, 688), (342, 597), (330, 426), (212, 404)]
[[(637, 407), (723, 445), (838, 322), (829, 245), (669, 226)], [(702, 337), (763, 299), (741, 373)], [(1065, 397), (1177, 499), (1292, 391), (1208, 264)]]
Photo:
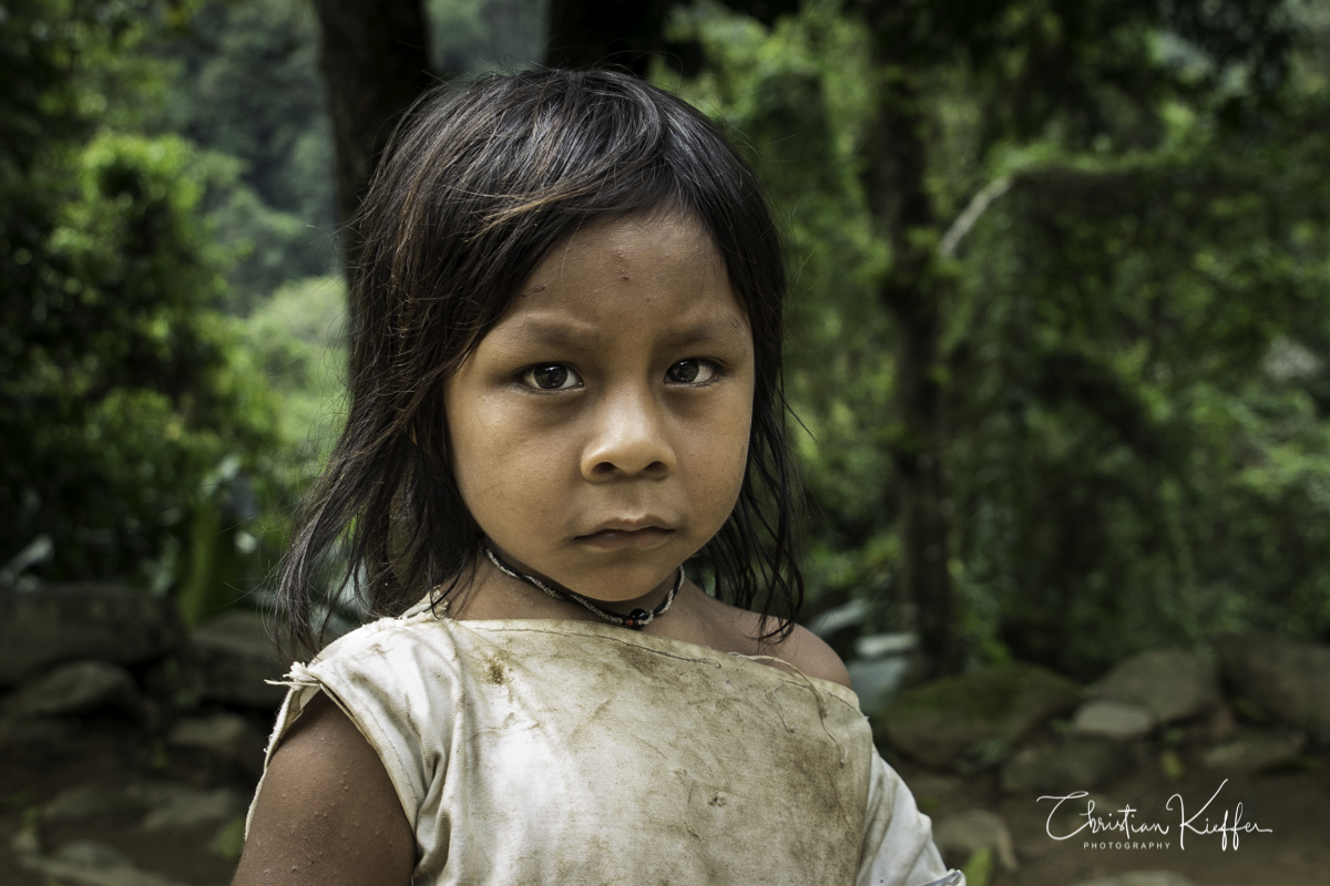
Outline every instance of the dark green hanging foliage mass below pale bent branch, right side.
[(1025, 658), (1330, 627), (1319, 186), (1216, 147), (1031, 171), (972, 244), (962, 558)]

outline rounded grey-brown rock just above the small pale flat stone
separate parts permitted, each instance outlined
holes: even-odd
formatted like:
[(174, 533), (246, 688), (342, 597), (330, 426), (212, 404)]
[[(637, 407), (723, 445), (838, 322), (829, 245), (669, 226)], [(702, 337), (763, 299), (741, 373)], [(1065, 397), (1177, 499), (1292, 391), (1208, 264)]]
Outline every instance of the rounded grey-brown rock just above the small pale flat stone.
[(1214, 665), (1181, 650), (1140, 652), (1117, 664), (1091, 687), (1091, 695), (1138, 704), (1156, 723), (1196, 717), (1220, 701)]

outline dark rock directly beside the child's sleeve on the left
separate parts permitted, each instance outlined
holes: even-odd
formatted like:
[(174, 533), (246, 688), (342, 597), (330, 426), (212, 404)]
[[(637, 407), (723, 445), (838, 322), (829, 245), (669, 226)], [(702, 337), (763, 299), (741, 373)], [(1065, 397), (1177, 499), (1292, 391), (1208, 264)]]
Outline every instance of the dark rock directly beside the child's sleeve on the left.
[(262, 615), (245, 610), (223, 612), (194, 631), (193, 643), (202, 671), (202, 699), (253, 708), (281, 707), (286, 687), (265, 680), (281, 680), (290, 665), (283, 663)]

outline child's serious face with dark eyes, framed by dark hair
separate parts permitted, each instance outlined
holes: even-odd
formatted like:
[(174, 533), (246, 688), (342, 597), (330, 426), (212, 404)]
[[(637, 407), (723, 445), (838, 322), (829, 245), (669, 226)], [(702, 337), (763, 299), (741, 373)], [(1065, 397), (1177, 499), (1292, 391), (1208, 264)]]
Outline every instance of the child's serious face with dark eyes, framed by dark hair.
[(589, 226), (448, 380), (462, 497), (516, 566), (641, 596), (734, 507), (753, 377), (746, 313), (696, 222)]

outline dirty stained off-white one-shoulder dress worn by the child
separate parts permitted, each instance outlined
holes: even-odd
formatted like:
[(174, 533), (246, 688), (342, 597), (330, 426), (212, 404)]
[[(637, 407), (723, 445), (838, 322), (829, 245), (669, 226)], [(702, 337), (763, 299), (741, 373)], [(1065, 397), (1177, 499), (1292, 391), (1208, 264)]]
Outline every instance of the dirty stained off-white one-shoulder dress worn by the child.
[(609, 624), (424, 604), (289, 680), (269, 754), (326, 691), (402, 801), (412, 886), (962, 882), (855, 695), (825, 680)]

